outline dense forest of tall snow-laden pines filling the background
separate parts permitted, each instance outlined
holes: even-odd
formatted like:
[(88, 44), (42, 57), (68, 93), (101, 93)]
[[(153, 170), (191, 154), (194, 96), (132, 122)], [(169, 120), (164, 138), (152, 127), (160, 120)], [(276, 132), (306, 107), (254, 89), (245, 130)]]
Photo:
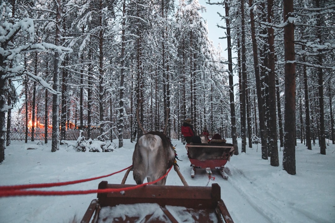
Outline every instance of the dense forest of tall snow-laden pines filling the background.
[(168, 136), (185, 118), (196, 134), (206, 126), (233, 144), (241, 137), (242, 152), (256, 135), (273, 166), (280, 141), (290, 174), (297, 138), (326, 154), (326, 138), (335, 143), (334, 2), (207, 3), (225, 21), (227, 46), (213, 46), (198, 0), (0, 0), (0, 162), (10, 127), (29, 121), (32, 134), (36, 121), (60, 126), (52, 151), (69, 120), (98, 126), (100, 140), (117, 129), (122, 147), (125, 128), (131, 140), (142, 134), (137, 107), (147, 130), (169, 118)]

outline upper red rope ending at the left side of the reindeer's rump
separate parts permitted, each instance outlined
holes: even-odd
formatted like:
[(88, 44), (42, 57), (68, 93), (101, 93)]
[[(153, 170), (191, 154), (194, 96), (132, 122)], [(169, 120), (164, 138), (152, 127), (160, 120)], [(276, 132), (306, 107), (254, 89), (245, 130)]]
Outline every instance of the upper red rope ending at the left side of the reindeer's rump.
[(65, 186), (65, 185), (70, 185), (70, 184), (79, 184), (79, 183), (83, 183), (83, 182), (87, 182), (87, 181), (97, 180), (97, 179), (100, 179), (100, 178), (110, 177), (114, 174), (118, 174), (122, 171), (128, 170), (132, 166), (133, 165), (128, 166), (127, 168), (125, 168), (123, 170), (120, 170), (118, 172), (115, 172), (115, 173), (112, 173), (112, 174), (109, 174), (109, 175), (94, 177), (94, 178), (89, 178), (89, 179), (83, 179), (83, 180), (77, 180), (77, 181), (46, 183), (46, 184), (24, 184), (24, 185), (0, 186), (0, 191), (22, 190), (22, 189), (29, 189), (29, 188), (59, 187), (59, 186)]

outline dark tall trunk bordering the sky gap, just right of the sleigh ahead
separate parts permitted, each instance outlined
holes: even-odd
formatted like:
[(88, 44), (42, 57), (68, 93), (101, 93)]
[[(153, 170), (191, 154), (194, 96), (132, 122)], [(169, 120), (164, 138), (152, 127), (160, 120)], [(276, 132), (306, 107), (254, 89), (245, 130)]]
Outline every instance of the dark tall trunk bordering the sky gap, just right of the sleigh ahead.
[[(230, 20), (229, 18), (229, 7), (227, 1), (224, 1), (225, 16), (226, 16), (226, 31), (227, 31), (227, 48), (228, 48), (228, 72), (229, 72), (229, 102), (230, 102), (230, 124), (231, 124), (231, 137), (232, 144), (235, 147), (235, 155), (239, 154), (239, 147), (237, 144), (237, 130), (236, 130), (236, 113), (235, 113), (235, 95), (234, 95), (234, 82), (233, 82), (233, 70), (232, 70), (232, 52), (231, 52), (231, 36), (230, 36)], [(211, 85), (212, 87), (212, 85)], [(211, 94), (211, 102), (212, 100)], [(212, 105), (213, 103), (211, 103)], [(213, 108), (212, 108), (213, 109)], [(211, 109), (211, 120), (213, 120)]]

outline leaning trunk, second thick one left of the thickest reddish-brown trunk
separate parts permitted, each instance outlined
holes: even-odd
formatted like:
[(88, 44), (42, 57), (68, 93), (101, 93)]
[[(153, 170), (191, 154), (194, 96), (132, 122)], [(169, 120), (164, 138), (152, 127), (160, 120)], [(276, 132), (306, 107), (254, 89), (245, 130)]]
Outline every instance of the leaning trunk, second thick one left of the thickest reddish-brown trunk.
[[(249, 0), (249, 7), (253, 5), (253, 1)], [(257, 105), (258, 105), (258, 117), (259, 117), (259, 131), (261, 136), (262, 145), (262, 159), (268, 159), (267, 150), (267, 131), (265, 126), (265, 114), (264, 114), (264, 99), (262, 96), (262, 84), (260, 78), (259, 61), (258, 61), (258, 46), (256, 40), (256, 28), (254, 20), (254, 10), (250, 8), (250, 22), (251, 22), (251, 38), (253, 45), (253, 55), (254, 55), (254, 69), (255, 69), (255, 79), (256, 79), (256, 92), (257, 92)]]

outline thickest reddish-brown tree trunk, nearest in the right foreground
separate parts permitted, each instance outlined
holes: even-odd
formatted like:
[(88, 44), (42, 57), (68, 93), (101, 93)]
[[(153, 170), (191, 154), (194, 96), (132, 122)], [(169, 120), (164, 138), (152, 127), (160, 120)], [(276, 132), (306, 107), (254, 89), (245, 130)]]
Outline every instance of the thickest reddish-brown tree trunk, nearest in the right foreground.
[[(284, 58), (285, 58), (285, 126), (283, 169), (295, 175), (295, 52), (294, 25), (288, 18), (293, 13), (293, 0), (284, 1)], [(292, 15), (293, 16), (293, 15)]]

